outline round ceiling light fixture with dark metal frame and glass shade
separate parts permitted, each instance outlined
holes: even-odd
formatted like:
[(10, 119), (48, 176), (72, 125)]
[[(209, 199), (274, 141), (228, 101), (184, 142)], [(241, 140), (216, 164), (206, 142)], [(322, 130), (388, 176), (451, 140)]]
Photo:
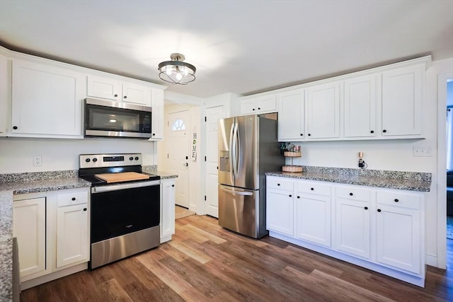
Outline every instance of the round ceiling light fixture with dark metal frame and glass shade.
[(183, 54), (174, 53), (170, 55), (171, 61), (159, 64), (159, 78), (172, 84), (187, 85), (195, 81), (195, 71), (192, 64), (183, 62)]

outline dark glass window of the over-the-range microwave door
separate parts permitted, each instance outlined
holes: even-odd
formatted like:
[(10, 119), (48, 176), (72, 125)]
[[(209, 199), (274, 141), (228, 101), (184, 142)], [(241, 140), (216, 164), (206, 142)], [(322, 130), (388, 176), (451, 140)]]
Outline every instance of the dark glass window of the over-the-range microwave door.
[(88, 129), (115, 132), (142, 132), (142, 112), (128, 109), (87, 106)]

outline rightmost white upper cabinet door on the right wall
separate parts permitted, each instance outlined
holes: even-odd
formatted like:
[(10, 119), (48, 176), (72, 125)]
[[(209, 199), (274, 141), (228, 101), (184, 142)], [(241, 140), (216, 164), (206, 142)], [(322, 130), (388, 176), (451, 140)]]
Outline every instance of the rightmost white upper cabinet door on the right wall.
[(422, 134), (424, 64), (382, 73), (382, 136)]

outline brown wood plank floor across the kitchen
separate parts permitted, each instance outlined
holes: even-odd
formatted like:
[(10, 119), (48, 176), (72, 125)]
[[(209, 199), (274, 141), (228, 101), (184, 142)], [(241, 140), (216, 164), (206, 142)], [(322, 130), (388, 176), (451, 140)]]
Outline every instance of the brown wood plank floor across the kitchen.
[[(453, 240), (447, 263), (453, 267)], [(105, 267), (21, 293), (21, 301), (452, 301), (453, 271), (428, 268), (426, 286), (319, 255), (253, 240), (210, 216), (176, 221), (173, 240)]]

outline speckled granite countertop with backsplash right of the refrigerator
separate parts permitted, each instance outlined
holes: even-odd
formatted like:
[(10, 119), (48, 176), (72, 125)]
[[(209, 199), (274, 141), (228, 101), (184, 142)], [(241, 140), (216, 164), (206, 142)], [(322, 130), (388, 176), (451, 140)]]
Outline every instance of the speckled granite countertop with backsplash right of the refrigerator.
[(431, 173), (311, 166), (304, 166), (303, 170), (304, 172), (300, 173), (269, 172), (265, 174), (282, 178), (319, 180), (350, 185), (366, 185), (369, 187), (384, 187), (388, 189), (411, 190), (418, 192), (429, 192), (431, 186)]

